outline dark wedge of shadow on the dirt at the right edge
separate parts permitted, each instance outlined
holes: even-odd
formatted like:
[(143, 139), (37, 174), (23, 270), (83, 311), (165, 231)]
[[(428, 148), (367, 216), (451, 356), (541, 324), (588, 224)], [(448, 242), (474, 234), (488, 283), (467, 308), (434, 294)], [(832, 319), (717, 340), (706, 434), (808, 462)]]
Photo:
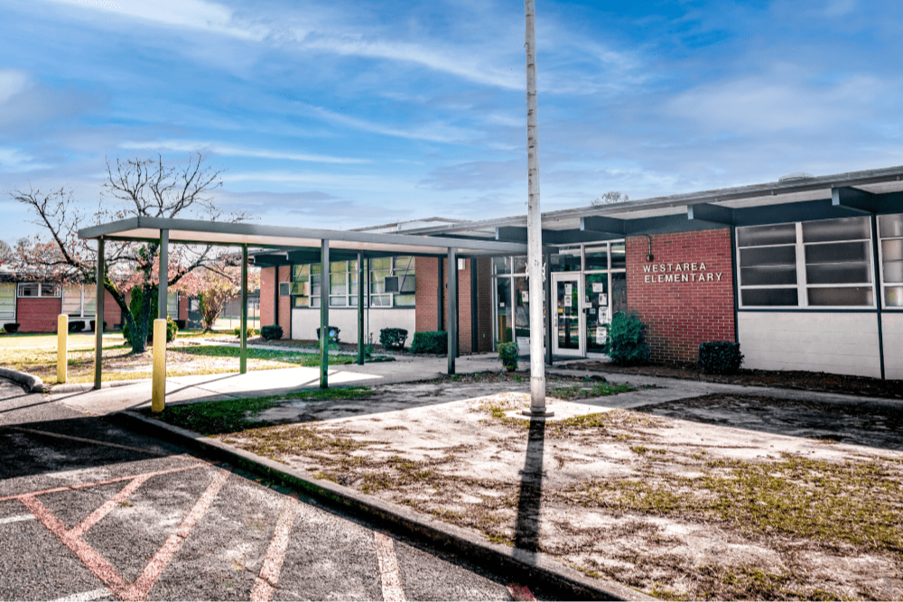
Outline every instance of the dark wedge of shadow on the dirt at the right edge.
[(903, 450), (903, 403), (824, 403), (712, 394), (635, 410), (747, 431)]

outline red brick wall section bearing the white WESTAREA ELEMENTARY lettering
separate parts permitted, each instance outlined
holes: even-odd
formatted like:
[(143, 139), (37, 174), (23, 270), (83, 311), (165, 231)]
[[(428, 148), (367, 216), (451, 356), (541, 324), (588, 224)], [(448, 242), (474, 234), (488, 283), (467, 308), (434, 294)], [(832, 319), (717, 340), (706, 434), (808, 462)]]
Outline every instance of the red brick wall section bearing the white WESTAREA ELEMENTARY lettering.
[(646, 236), (628, 237), (628, 307), (647, 324), (652, 360), (695, 361), (700, 343), (733, 341), (731, 231), (653, 235), (651, 264), (647, 253)]

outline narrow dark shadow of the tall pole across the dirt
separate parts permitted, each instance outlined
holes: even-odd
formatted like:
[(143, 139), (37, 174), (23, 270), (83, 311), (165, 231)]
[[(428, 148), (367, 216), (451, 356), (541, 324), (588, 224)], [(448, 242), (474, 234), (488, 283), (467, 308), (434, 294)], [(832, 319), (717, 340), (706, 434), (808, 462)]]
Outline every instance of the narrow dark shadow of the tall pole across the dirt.
[(532, 553), (539, 551), (539, 511), (543, 498), (543, 453), (545, 451), (545, 420), (532, 418), (526, 441), (526, 457), (520, 476), (520, 496), (517, 500), (517, 523), (514, 545)]

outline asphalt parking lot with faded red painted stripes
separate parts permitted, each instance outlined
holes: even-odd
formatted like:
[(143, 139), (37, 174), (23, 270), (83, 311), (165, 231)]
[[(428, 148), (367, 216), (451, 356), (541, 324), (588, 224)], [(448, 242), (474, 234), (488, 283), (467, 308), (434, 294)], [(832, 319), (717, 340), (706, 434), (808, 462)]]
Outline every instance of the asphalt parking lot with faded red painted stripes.
[(286, 494), (0, 380), (0, 600), (513, 599)]

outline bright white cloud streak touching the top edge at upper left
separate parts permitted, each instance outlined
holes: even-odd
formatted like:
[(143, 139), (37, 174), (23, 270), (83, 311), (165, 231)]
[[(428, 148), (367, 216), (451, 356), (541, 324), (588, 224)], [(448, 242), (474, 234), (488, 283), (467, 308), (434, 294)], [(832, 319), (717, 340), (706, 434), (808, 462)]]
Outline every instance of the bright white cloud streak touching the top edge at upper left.
[(206, 0), (52, 0), (120, 16), (174, 27), (223, 33), (232, 37), (261, 40), (268, 30), (235, 23), (232, 10)]

